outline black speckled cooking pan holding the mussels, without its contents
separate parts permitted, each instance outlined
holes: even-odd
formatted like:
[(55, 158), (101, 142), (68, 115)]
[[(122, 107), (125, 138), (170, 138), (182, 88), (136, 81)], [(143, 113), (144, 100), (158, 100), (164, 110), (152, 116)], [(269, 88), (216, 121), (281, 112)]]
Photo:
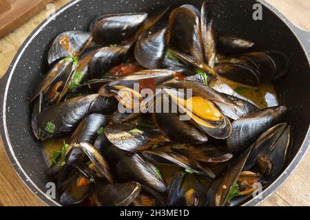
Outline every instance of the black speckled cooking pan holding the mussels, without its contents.
[[(276, 81), (276, 91), (282, 104), (287, 105), (287, 122), (293, 127), (293, 148), (289, 152), (287, 168), (264, 191), (262, 199), (271, 195), (300, 163), (310, 144), (310, 33), (293, 26), (278, 10), (265, 1), (262, 21), (254, 21), (253, 0), (211, 0), (210, 6), (216, 29), (236, 34), (256, 43), (255, 50), (280, 50), (291, 61), (289, 73)], [(66, 30), (87, 30), (87, 26), (101, 14), (112, 12), (158, 11), (190, 3), (200, 7), (198, 0), (77, 0), (68, 3), (30, 34), (1, 79), (1, 137), (8, 157), (24, 183), (48, 205), (58, 201), (45, 196), (47, 166), (41, 143), (30, 128), (30, 97), (48, 70), (45, 48), (59, 33)], [(304, 21), (309, 22), (309, 21)], [(252, 199), (245, 205), (256, 205), (262, 199)]]

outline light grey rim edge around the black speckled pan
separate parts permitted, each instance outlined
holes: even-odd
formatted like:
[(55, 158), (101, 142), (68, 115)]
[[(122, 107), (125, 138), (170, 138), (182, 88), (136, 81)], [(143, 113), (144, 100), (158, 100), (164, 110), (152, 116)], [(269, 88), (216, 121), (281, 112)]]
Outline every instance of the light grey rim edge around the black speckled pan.
[[(30, 34), (30, 36), (28, 36), (28, 38), (25, 40), (23, 45), (21, 45), (19, 51), (14, 56), (8, 71), (3, 76), (3, 79), (2, 79), (3, 80), (2, 83), (5, 83), (5, 84), (3, 84), (3, 85), (5, 85), (5, 90), (4, 90), (4, 96), (3, 96), (3, 103), (1, 103), (1, 108), (2, 108), (2, 112), (1, 112), (1, 114), (2, 114), (1, 137), (3, 138), (3, 145), (5, 146), (6, 154), (8, 155), (10, 163), (12, 164), (17, 175), (23, 181), (23, 184), (25, 184), (25, 186), (27, 186), (31, 190), (31, 192), (33, 192), (34, 195), (36, 195), (39, 199), (41, 199), (41, 201), (43, 201), (46, 205), (52, 205), (52, 206), (61, 206), (61, 204), (58, 203), (57, 201), (55, 201), (54, 199), (51, 199), (50, 197), (48, 197), (45, 194), (45, 192), (43, 192), (41, 189), (39, 189), (39, 187), (36, 184), (34, 184), (34, 182), (31, 180), (31, 178), (28, 176), (28, 174), (25, 172), (25, 170), (23, 170), (23, 167), (21, 166), (21, 164), (19, 164), (19, 160), (17, 159), (17, 157), (13, 151), (12, 144), (10, 143), (10, 137), (8, 134), (8, 128), (7, 128), (7, 123), (6, 123), (6, 100), (8, 97), (8, 89), (10, 87), (12, 75), (14, 74), (14, 70), (17, 67), (17, 64), (18, 64), (21, 56), (23, 55), (23, 52), (25, 51), (25, 49), (32, 42), (32, 40), (39, 34), (39, 32), (41, 32), (41, 30), (43, 30), (43, 28), (45, 28), (45, 26), (48, 25), (50, 23), (50, 21), (52, 21), (52, 19), (54, 17), (58, 16), (59, 14), (61, 14), (65, 10), (67, 10), (68, 8), (71, 8), (73, 5), (75, 5), (76, 3), (79, 3), (80, 1), (82, 1), (82, 0), (75, 0), (75, 1), (72, 1), (72, 2), (69, 2), (65, 5), (63, 5), (61, 8), (59, 8), (59, 10), (56, 10), (55, 14), (52, 17), (44, 20)], [(267, 10), (269, 10), (270, 12), (275, 14), (278, 17), (278, 19), (280, 19), (280, 21), (282, 21), (282, 23), (285, 23), (285, 25), (287, 25), (287, 28), (289, 28), (289, 30), (292, 32), (292, 34), (294, 34), (294, 36), (298, 40), (298, 43), (300, 44), (300, 47), (302, 48), (304, 55), (307, 57), (307, 61), (310, 64), (309, 56), (306, 52), (306, 49), (305, 49), (304, 45), (301, 43), (300, 37), (296, 34), (296, 31), (298, 29), (281, 12), (276, 10), (276, 8), (271, 6), (265, 0), (255, 0), (255, 1), (264, 5), (264, 7)], [(273, 181), (273, 184), (268, 186), (262, 192), (263, 198), (262, 199), (255, 199), (255, 198), (251, 199), (251, 200), (247, 201), (247, 203), (243, 204), (242, 206), (258, 205), (260, 202), (262, 202), (265, 199), (267, 199), (268, 197), (270, 197), (273, 194), (273, 192), (276, 192), (276, 190), (280, 186), (282, 186), (282, 184), (284, 184), (284, 182), (287, 180), (287, 178), (293, 173), (293, 170), (295, 170), (297, 168), (298, 164), (300, 164), (300, 162), (304, 158), (304, 155), (306, 154), (306, 151), (309, 148), (309, 146), (310, 146), (310, 126), (309, 126), (309, 129), (308, 129), (306, 135), (304, 136), (304, 141), (302, 142), (298, 153), (295, 155), (295, 157), (293, 157), (289, 166), (287, 166), (287, 168), (285, 170), (283, 170), (282, 174), (275, 181)], [(264, 197), (264, 195), (266, 195), (266, 196)]]

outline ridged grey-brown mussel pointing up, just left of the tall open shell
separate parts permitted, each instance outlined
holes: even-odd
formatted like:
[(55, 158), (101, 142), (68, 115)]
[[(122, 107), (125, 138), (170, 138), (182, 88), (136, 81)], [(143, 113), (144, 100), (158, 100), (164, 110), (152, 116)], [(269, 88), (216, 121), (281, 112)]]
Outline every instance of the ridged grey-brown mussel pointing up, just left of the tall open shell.
[(161, 67), (168, 43), (167, 27), (156, 32), (145, 32), (141, 34), (134, 50), (136, 61), (147, 69)]

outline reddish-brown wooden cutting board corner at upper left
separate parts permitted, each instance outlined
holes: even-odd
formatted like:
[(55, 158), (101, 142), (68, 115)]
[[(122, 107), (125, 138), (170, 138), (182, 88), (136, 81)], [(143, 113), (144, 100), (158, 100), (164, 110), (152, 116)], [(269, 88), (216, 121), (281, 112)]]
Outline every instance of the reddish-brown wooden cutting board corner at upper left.
[(0, 0), (0, 38), (31, 19), (54, 0)]

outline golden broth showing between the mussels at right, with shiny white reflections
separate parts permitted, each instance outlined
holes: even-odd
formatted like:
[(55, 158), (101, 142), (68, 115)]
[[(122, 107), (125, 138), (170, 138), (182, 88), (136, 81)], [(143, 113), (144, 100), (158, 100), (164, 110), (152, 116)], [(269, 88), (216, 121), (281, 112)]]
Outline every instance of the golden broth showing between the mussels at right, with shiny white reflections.
[(278, 96), (271, 83), (266, 83), (258, 87), (249, 87), (218, 76), (218, 80), (211, 81), (209, 86), (227, 94), (234, 92), (237, 96), (239, 95), (251, 100), (251, 102), (261, 109), (279, 104)]

